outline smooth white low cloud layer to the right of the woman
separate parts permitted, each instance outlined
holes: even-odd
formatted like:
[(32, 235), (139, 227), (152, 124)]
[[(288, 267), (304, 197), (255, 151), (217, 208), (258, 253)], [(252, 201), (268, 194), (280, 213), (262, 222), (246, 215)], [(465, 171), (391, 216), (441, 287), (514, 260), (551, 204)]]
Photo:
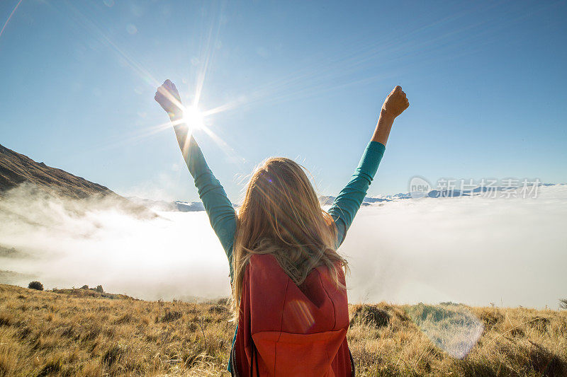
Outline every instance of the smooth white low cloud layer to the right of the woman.
[(365, 207), (342, 252), (351, 301), (557, 308), (567, 296), (567, 186), (536, 199), (401, 200)]

